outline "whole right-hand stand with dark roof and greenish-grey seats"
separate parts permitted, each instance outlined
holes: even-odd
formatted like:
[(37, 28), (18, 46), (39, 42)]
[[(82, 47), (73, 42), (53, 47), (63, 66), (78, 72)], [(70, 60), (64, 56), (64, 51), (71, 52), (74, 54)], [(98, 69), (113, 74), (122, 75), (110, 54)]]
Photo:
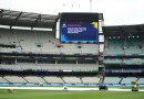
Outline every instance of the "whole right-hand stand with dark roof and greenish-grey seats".
[[(105, 35), (104, 84), (144, 84), (144, 25), (103, 26)], [(143, 80), (143, 78), (142, 78)]]

